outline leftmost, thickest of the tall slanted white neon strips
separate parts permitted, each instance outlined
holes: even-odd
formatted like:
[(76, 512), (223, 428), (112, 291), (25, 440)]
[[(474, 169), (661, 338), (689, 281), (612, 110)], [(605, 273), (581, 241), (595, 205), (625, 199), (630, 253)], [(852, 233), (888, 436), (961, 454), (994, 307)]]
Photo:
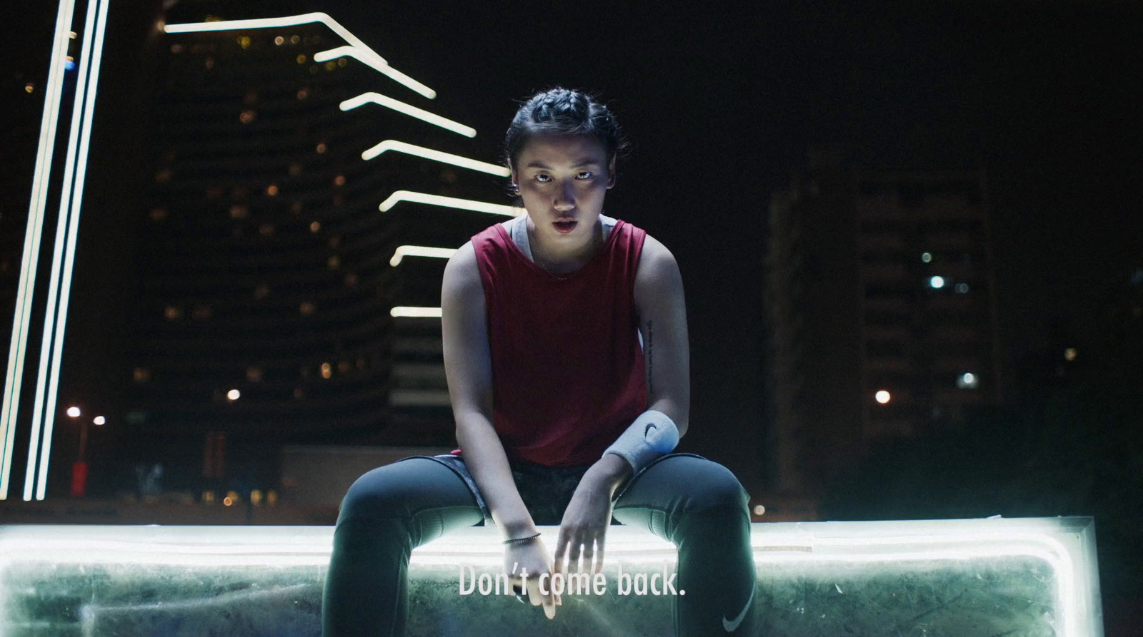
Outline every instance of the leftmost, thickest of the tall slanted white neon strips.
[(27, 231), (24, 235), (24, 257), (19, 269), (16, 312), (8, 349), (8, 373), (5, 377), (3, 408), (0, 414), (0, 500), (8, 499), (11, 458), (16, 445), (16, 416), (24, 382), (24, 356), (27, 350), (29, 323), (32, 320), (32, 295), (35, 291), (35, 271), (40, 260), (40, 239), (43, 233), (43, 211), (47, 208), (48, 182), (51, 177), (51, 156), (55, 151), (56, 128), (63, 100), (64, 62), (71, 35), (75, 0), (59, 0), (56, 15), (56, 34), (51, 45), (48, 83), (43, 96), (43, 116), (40, 121), (40, 145), (35, 153), (32, 177), (32, 200), (27, 208)]

